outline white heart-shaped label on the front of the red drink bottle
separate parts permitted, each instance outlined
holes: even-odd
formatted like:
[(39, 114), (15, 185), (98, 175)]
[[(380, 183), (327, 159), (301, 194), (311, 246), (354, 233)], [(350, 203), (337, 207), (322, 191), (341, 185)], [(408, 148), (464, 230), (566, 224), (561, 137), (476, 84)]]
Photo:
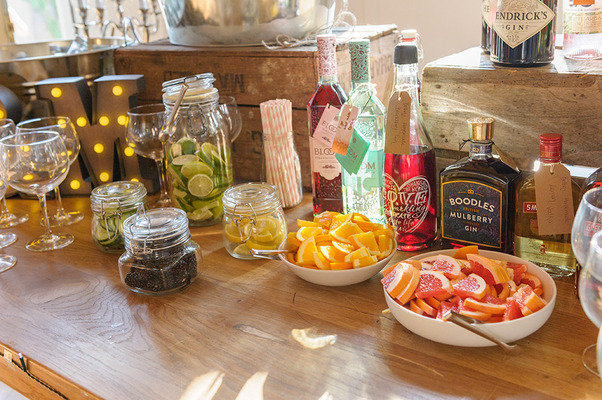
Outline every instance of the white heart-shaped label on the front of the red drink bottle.
[(428, 215), (431, 186), (426, 177), (415, 176), (401, 186), (385, 174), (385, 215), (396, 231), (410, 233), (420, 227)]

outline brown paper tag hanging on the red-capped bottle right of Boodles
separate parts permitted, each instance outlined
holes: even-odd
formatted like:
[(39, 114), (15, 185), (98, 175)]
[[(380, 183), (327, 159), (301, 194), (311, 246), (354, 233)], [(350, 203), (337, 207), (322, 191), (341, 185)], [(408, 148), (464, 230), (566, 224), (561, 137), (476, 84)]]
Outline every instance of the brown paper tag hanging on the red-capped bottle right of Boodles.
[(535, 202), (539, 235), (571, 233), (575, 212), (571, 174), (564, 165), (541, 165), (535, 172)]

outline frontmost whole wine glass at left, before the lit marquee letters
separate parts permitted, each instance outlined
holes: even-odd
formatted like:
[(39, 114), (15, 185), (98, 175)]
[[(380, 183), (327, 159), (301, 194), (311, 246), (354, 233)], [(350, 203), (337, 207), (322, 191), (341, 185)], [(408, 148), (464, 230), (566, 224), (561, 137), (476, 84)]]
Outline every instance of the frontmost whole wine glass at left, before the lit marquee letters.
[(40, 201), (45, 231), (25, 247), (48, 251), (73, 243), (73, 235), (51, 232), (46, 207), (46, 193), (65, 180), (69, 172), (69, 155), (59, 133), (38, 130), (4, 137), (0, 139), (0, 161), (10, 187), (34, 194)]

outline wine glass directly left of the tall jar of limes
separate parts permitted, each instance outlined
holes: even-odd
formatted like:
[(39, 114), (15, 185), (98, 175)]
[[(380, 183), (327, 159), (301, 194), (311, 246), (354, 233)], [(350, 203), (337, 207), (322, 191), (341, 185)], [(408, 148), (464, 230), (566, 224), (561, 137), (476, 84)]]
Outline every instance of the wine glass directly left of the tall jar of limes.
[(161, 188), (159, 199), (153, 204), (155, 207), (170, 207), (172, 205), (167, 194), (164, 143), (159, 140), (159, 134), (165, 119), (165, 106), (163, 104), (146, 104), (134, 107), (128, 111), (125, 134), (128, 146), (134, 150), (134, 153), (155, 160), (157, 163)]

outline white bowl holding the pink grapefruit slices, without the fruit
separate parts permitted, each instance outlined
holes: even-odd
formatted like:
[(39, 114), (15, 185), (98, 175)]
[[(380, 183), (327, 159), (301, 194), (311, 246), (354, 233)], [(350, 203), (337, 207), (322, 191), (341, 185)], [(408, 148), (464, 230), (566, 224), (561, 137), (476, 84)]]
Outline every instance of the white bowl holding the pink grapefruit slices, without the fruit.
[[(438, 250), (420, 254), (409, 259), (416, 260), (428, 256), (434, 256), (436, 254), (446, 254), (451, 256), (454, 254), (454, 252), (455, 250)], [(523, 339), (541, 328), (552, 314), (554, 304), (556, 303), (556, 284), (550, 275), (548, 275), (547, 272), (539, 268), (537, 265), (509, 254), (487, 250), (479, 250), (479, 254), (496, 260), (526, 263), (528, 272), (536, 275), (541, 280), (544, 291), (543, 298), (547, 302), (545, 307), (526, 317), (518, 318), (512, 321), (484, 323), (480, 324), (479, 327), (487, 332), (490, 332), (491, 334), (496, 335), (498, 338), (507, 343)], [(417, 335), (435, 342), (451, 344), (454, 346), (495, 346), (495, 343), (451, 322), (418, 315), (399, 305), (399, 303), (389, 296), (384, 288), (383, 291), (387, 305), (389, 306), (389, 309), (391, 310), (391, 313), (395, 319), (397, 319), (400, 324)]]

